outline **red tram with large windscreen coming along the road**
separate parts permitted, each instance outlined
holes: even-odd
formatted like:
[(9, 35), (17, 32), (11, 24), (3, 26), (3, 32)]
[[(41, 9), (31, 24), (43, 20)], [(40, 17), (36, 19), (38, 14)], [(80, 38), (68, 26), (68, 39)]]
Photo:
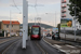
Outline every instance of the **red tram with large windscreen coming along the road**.
[(30, 39), (41, 39), (41, 27), (38, 25), (31, 26)]

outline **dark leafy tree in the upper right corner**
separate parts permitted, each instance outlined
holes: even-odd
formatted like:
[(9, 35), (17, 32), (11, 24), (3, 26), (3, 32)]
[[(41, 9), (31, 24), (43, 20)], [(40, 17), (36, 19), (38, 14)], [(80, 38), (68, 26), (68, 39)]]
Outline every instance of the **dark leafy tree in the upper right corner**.
[(76, 16), (79, 21), (79, 23), (81, 23), (81, 15), (79, 14), (81, 12), (81, 0), (69, 0), (70, 4), (69, 5), (69, 11), (70, 11), (70, 15), (75, 16), (75, 10), (77, 11)]

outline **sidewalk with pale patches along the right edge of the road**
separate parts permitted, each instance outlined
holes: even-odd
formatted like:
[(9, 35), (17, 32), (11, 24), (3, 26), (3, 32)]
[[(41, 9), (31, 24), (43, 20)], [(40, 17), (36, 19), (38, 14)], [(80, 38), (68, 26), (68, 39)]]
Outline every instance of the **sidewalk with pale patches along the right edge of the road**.
[(51, 40), (48, 38), (43, 38), (43, 40), (49, 43), (51, 46), (58, 49), (60, 52), (66, 54), (80, 54), (81, 48), (77, 48), (70, 44), (65, 44), (64, 42)]

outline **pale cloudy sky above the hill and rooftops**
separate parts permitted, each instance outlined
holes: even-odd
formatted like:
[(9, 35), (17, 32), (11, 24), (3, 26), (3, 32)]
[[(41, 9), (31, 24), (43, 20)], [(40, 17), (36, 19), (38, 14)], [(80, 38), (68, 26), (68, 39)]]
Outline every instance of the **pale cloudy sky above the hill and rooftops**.
[[(36, 3), (37, 12), (31, 6)], [(51, 26), (55, 26), (55, 21), (56, 25), (60, 23), (60, 0), (28, 0), (28, 23), (35, 23), (35, 17)], [(0, 21), (10, 21), (10, 17), (23, 24), (23, 0), (0, 0)]]

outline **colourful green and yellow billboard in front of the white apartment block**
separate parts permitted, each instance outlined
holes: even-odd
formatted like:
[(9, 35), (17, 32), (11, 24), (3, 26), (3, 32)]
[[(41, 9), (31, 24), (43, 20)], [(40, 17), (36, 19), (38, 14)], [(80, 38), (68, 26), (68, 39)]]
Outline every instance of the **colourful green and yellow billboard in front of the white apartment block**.
[(60, 18), (60, 27), (72, 27), (72, 18)]

